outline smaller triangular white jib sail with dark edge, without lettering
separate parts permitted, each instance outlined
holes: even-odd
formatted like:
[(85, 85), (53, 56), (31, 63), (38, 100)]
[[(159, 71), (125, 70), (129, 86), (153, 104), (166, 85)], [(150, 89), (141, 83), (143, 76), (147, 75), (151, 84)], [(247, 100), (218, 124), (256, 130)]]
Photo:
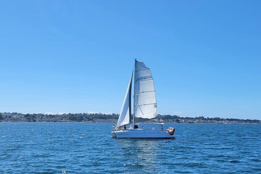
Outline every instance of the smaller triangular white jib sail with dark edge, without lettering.
[(122, 109), (119, 115), (119, 119), (116, 127), (120, 127), (123, 125), (128, 125), (131, 123), (131, 83), (132, 83), (132, 74), (130, 76), (130, 82), (125, 94), (125, 98), (122, 104)]

